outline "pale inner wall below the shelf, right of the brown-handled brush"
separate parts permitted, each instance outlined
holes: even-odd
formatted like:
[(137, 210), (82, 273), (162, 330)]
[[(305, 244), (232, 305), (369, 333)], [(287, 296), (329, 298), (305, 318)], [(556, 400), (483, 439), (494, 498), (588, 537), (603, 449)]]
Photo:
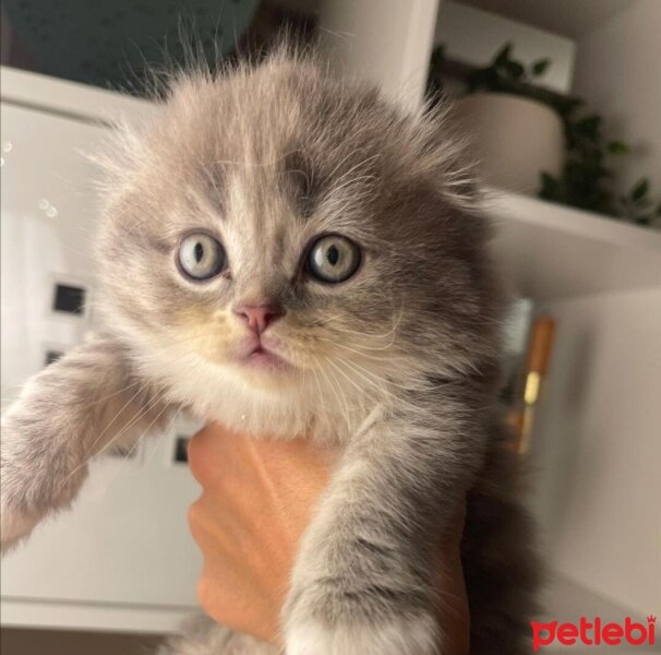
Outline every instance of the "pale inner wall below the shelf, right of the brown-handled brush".
[(661, 288), (543, 309), (557, 321), (532, 443), (548, 561), (644, 616), (661, 607)]

